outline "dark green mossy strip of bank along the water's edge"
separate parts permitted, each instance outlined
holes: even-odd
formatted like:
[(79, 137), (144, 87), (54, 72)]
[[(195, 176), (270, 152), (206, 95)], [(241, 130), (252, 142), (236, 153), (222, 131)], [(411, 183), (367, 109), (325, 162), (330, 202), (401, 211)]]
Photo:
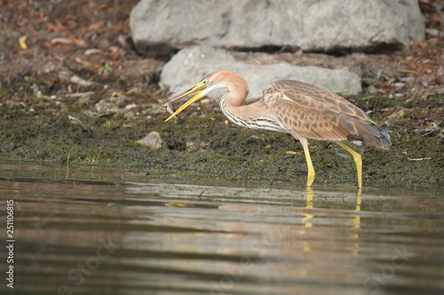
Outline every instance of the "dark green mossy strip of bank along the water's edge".
[[(198, 112), (192, 106), (179, 115), (176, 123), (165, 123), (167, 113), (153, 113), (150, 118), (143, 114), (144, 106), (155, 109), (154, 96), (127, 96), (129, 104), (138, 105), (128, 116), (96, 113), (95, 105), (109, 93), (103, 91), (102, 95), (83, 100), (33, 95), (26, 95), (20, 101), (2, 100), (2, 160), (69, 161), (71, 167), (123, 168), (155, 178), (305, 183), (304, 153), (292, 136), (234, 126), (218, 112), (215, 101), (202, 105)], [(363, 100), (353, 99), (358, 103)], [(442, 133), (439, 129), (428, 136), (415, 132), (426, 125), (424, 117), (442, 119), (440, 106), (424, 109), (424, 114), (407, 109), (406, 112), (412, 113), (387, 120), (388, 114), (397, 110), (399, 106), (384, 116), (372, 115), (373, 120), (391, 132), (390, 151), (365, 144), (355, 147), (363, 155), (364, 185), (444, 186)], [(136, 144), (151, 131), (163, 136), (163, 148), (159, 151)], [(317, 173), (315, 183), (354, 185), (355, 167), (347, 152), (329, 142), (312, 141), (310, 147)]]

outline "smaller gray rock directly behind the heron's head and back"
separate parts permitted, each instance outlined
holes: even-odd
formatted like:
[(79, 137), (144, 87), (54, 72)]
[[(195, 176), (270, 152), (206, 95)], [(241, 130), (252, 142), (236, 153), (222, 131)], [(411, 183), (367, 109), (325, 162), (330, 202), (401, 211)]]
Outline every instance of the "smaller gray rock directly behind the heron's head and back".
[[(319, 66), (294, 66), (289, 63), (253, 65), (234, 59), (226, 50), (210, 47), (186, 48), (170, 59), (161, 74), (160, 85), (178, 94), (191, 88), (206, 74), (227, 70), (241, 74), (249, 84), (249, 99), (262, 97), (262, 90), (276, 80), (291, 79), (311, 83), (336, 93), (361, 92), (361, 77), (345, 70)], [(219, 93), (212, 97), (218, 97)]]

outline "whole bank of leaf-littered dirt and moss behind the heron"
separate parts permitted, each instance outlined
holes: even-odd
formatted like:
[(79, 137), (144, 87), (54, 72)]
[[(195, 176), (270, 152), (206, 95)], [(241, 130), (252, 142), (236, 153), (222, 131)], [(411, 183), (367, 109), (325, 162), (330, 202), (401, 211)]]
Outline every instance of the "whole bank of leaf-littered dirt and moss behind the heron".
[[(168, 57), (133, 50), (128, 19), (137, 3), (0, 1), (0, 160), (123, 168), (147, 179), (305, 183), (300, 144), (228, 123), (217, 101), (190, 106), (176, 123), (163, 122), (168, 92), (157, 82)], [(363, 155), (364, 186), (444, 187), (444, 5), (420, 4), (426, 39), (408, 49), (235, 57), (360, 74), (363, 94), (345, 98), (393, 143), (390, 151), (355, 148)], [(156, 151), (136, 143), (152, 131), (163, 139)], [(312, 141), (310, 148), (315, 184), (355, 185), (346, 152), (329, 142)]]

